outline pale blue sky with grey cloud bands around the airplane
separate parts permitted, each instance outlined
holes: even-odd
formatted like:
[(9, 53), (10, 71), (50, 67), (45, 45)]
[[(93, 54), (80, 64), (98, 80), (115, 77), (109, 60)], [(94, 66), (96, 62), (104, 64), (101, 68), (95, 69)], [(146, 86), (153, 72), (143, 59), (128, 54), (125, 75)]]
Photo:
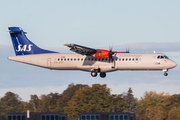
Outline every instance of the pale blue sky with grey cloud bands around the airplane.
[[(179, 0), (2, 0), (0, 1), (0, 97), (8, 91), (22, 100), (31, 94), (62, 93), (68, 84), (107, 84), (112, 94), (134, 97), (145, 91), (179, 94)], [(44, 49), (69, 53), (65, 43), (131, 53), (164, 53), (178, 65), (162, 71), (116, 71), (102, 79), (89, 72), (56, 71), (10, 61), (14, 49), (8, 27), (21, 27)]]

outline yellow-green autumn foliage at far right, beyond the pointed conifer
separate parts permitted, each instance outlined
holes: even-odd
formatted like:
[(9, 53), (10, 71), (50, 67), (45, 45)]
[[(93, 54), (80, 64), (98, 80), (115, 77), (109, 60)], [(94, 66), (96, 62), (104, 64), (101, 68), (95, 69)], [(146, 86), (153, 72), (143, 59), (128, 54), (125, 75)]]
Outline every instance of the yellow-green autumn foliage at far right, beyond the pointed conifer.
[(137, 120), (179, 120), (180, 95), (145, 92), (138, 103)]

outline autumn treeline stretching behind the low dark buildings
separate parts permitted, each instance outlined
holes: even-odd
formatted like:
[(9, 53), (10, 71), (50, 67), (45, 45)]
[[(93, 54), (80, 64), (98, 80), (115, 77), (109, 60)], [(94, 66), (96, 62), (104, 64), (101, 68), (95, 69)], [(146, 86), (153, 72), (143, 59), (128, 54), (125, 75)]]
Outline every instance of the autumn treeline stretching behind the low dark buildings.
[(28, 102), (15, 93), (7, 92), (0, 98), (0, 120), (6, 120), (8, 112), (59, 112), (68, 114), (69, 120), (77, 120), (79, 112), (134, 112), (137, 120), (180, 119), (180, 95), (145, 92), (136, 99), (133, 91), (111, 94), (106, 84), (70, 84), (62, 94), (31, 95)]

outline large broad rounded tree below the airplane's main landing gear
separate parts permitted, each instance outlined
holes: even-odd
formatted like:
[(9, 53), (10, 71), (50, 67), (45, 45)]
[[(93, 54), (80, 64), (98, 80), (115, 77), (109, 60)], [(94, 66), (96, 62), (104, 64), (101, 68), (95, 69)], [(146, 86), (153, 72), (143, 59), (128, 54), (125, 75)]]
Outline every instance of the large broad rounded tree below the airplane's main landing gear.
[(122, 96), (111, 95), (105, 84), (93, 84), (76, 91), (64, 110), (69, 119), (77, 119), (78, 112), (110, 112), (114, 106), (117, 111), (123, 111), (125, 103)]

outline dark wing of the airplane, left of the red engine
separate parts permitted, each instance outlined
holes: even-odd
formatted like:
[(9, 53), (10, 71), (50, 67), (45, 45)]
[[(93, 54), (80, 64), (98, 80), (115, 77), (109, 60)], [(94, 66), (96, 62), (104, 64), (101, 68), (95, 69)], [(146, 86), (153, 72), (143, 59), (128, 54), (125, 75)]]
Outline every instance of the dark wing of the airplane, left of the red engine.
[(96, 49), (84, 47), (77, 44), (64, 44), (69, 47), (71, 51), (76, 52), (81, 55), (93, 56), (96, 53)]

